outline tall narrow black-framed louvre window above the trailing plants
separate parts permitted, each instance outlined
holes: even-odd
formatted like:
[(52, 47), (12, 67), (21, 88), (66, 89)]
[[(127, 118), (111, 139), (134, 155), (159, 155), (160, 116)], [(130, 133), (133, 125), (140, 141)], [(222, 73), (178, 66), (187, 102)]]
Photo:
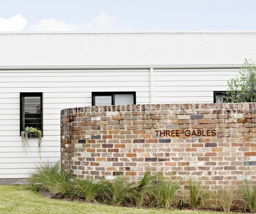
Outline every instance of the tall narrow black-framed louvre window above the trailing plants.
[(43, 136), (43, 93), (20, 93), (19, 115), (19, 133), (21, 133), (27, 126), (29, 126), (41, 130)]

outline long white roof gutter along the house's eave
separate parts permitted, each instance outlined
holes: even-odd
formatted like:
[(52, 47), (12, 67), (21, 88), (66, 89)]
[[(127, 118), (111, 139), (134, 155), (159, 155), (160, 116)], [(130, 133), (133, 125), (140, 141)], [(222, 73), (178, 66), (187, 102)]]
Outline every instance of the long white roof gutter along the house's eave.
[(105, 69), (201, 69), (241, 68), (243, 65), (61, 65), (61, 66), (0, 66), (0, 70), (105, 70)]

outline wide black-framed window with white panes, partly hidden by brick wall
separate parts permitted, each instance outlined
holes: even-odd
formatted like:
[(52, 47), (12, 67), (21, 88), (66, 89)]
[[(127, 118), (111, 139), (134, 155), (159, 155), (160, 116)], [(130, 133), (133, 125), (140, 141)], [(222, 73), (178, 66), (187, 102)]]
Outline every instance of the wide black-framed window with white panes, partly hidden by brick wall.
[(92, 92), (92, 106), (136, 104), (136, 92)]

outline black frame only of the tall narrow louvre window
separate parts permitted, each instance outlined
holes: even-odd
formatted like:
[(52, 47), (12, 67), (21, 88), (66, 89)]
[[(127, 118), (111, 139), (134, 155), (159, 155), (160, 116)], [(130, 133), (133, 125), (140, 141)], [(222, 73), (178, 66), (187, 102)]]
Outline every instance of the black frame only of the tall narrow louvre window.
[[(19, 135), (21, 136), (21, 132), (24, 131), (25, 127), (23, 127), (23, 98), (25, 96), (40, 96), (41, 102), (41, 132), (43, 136), (43, 92), (20, 92), (19, 93)], [(25, 126), (25, 125), (24, 125)], [(33, 135), (32, 135), (33, 136)]]

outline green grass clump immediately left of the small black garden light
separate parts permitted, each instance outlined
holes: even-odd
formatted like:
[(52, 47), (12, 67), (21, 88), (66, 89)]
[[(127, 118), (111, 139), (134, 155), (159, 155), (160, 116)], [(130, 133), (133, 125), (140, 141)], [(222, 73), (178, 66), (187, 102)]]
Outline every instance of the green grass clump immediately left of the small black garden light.
[(180, 187), (179, 181), (173, 181), (172, 177), (166, 180), (163, 174), (160, 174), (155, 185), (153, 195), (156, 199), (157, 206), (165, 209), (170, 208)]

